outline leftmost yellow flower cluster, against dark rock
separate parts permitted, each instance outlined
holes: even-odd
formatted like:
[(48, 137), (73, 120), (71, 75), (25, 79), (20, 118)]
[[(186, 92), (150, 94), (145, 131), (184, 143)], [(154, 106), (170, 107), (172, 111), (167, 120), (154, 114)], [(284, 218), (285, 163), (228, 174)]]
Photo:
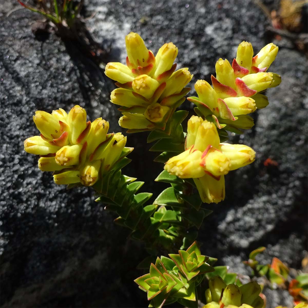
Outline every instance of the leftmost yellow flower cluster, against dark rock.
[(92, 186), (119, 159), (126, 144), (121, 133), (107, 134), (109, 123), (86, 120), (84, 108), (36, 111), (34, 123), (40, 136), (24, 141), (25, 151), (40, 155), (39, 169), (54, 171), (57, 184), (81, 183)]

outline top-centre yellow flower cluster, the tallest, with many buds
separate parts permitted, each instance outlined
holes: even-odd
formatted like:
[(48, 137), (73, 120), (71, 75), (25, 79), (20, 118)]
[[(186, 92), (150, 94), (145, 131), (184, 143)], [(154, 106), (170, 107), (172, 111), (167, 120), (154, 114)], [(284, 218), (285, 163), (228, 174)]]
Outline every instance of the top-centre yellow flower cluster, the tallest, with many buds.
[(119, 87), (111, 92), (111, 102), (121, 105), (121, 127), (128, 132), (162, 129), (190, 91), (185, 86), (192, 79), (188, 69), (175, 71), (178, 49), (165, 43), (154, 57), (137, 33), (126, 38), (126, 64), (108, 63), (105, 74)]

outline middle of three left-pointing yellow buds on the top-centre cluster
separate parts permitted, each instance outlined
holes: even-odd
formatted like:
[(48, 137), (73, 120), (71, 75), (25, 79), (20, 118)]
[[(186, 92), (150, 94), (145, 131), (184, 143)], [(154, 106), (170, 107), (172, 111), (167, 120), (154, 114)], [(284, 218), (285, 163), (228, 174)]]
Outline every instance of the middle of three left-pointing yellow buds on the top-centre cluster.
[(133, 95), (131, 90), (117, 88), (111, 92), (110, 95), (111, 103), (121, 105), (125, 107), (142, 106), (147, 107), (148, 102), (146, 99), (142, 99), (138, 96)]

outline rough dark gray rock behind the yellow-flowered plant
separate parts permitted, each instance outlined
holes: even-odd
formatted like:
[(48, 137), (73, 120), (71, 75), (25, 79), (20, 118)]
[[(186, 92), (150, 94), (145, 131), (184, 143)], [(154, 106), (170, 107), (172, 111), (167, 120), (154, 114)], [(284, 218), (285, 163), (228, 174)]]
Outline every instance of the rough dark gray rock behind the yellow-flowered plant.
[[(142, 245), (127, 241), (127, 230), (113, 224), (91, 190), (54, 184), (50, 173), (37, 168), (37, 157), (23, 151), (23, 140), (37, 134), (32, 115), (38, 109), (79, 104), (89, 119), (103, 116), (111, 131), (121, 131), (119, 112), (109, 103), (113, 83), (54, 34), (36, 40), (30, 26), (40, 16), (18, 10), (6, 17), (17, 5), (3, 2), (0, 15), (1, 305), (146, 306), (132, 282), (142, 274), (135, 270), (146, 255)], [(269, 21), (250, 1), (88, 1), (85, 14), (95, 11), (87, 25), (98, 42), (111, 44), (111, 60), (124, 62), (125, 35), (136, 31), (154, 53), (175, 43), (178, 67), (189, 67), (193, 82), (209, 81), (215, 61), (232, 60), (242, 40), (256, 52), (272, 40), (265, 36)], [(214, 213), (199, 233), (202, 251), (240, 274), (249, 273), (241, 261), (261, 245), (267, 247), (261, 261), (277, 256), (295, 268), (307, 249), (306, 58), (281, 48), (271, 70), (283, 82), (268, 91), (270, 105), (256, 112), (252, 130), (231, 136), (252, 146), (257, 159), (226, 177), (226, 199), (209, 205)], [(188, 101), (184, 108), (192, 111)], [(128, 136), (135, 150), (125, 173), (146, 180), (143, 191), (158, 193), (165, 186), (151, 182), (160, 167), (151, 164), (155, 155), (148, 154), (145, 140), (145, 133)], [(269, 157), (277, 167), (264, 166)], [(268, 307), (290, 304), (284, 291), (266, 295)]]

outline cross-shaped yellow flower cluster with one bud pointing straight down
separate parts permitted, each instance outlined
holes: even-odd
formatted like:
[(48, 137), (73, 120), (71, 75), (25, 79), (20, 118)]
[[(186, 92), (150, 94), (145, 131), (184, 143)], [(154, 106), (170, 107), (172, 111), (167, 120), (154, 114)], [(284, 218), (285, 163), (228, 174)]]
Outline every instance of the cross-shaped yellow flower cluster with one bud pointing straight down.
[(216, 126), (193, 115), (188, 120), (185, 151), (170, 158), (164, 169), (182, 179), (193, 178), (201, 200), (218, 203), (225, 198), (225, 174), (254, 159), (252, 148), (220, 143)]

